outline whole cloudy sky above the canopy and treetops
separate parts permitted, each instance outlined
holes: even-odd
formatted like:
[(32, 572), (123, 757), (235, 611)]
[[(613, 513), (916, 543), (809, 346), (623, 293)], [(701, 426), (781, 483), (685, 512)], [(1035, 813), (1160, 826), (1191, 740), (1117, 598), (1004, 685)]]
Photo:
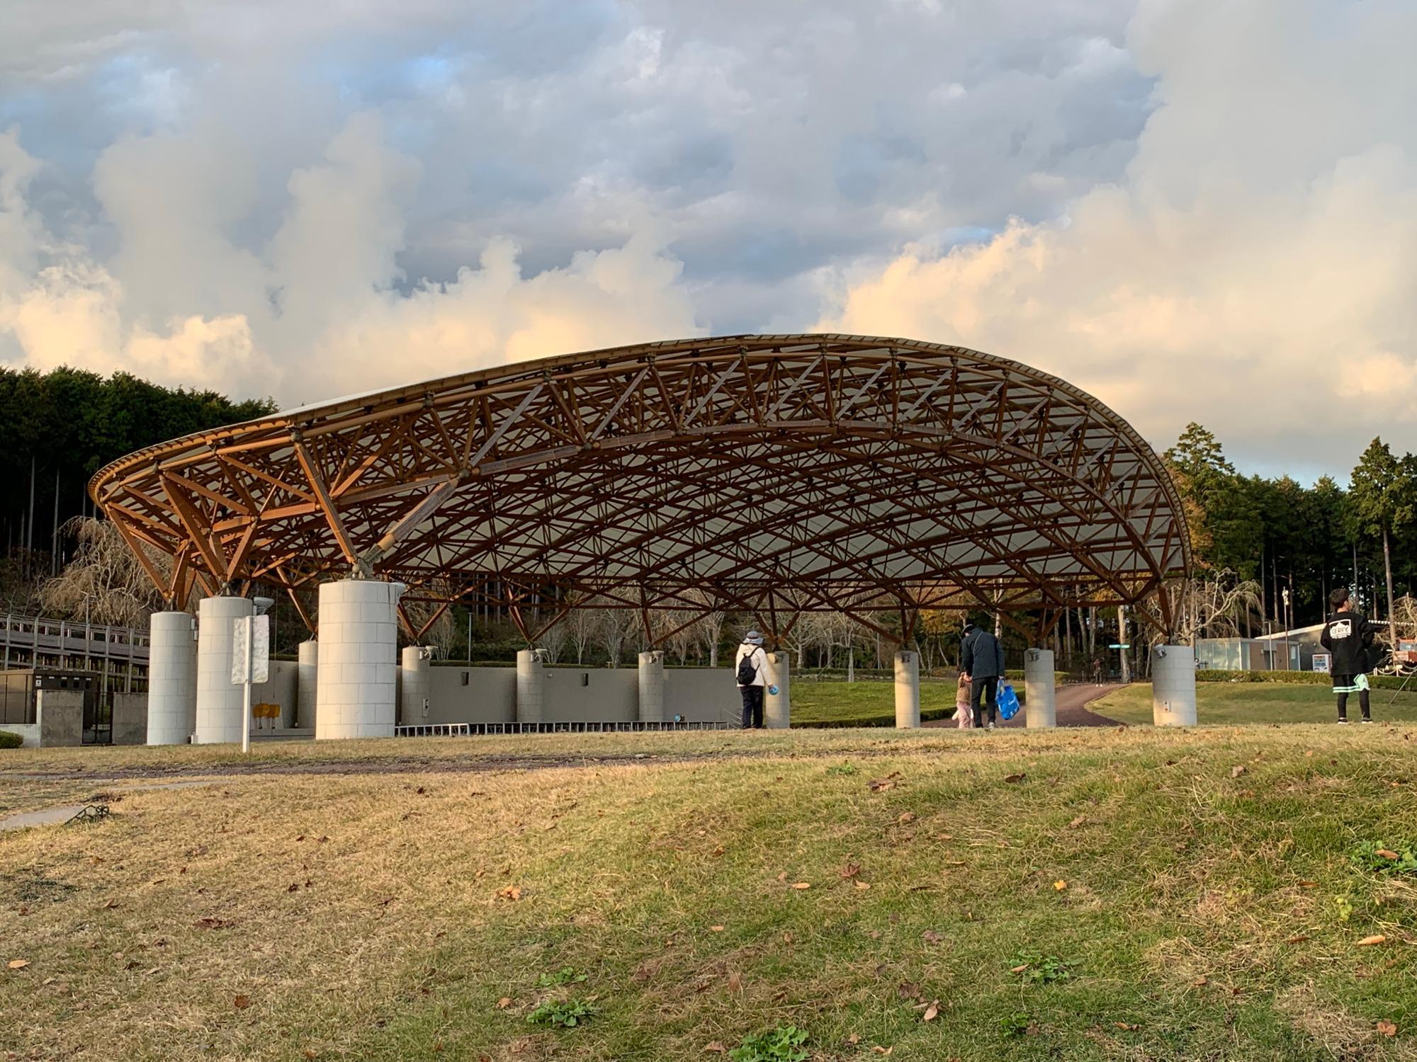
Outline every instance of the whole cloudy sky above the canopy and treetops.
[(744, 331), (1417, 449), (1411, 0), (3, 0), (0, 364), (285, 406)]

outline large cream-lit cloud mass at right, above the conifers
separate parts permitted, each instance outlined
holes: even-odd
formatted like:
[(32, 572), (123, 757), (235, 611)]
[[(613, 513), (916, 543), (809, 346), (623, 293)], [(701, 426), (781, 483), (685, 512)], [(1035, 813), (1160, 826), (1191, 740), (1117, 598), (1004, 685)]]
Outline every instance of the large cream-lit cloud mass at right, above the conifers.
[(1161, 106), (1124, 180), (836, 270), (819, 327), (1039, 365), (1158, 445), (1199, 419), (1247, 462), (1343, 470), (1417, 423), (1414, 33), (1396, 0), (1145, 3)]

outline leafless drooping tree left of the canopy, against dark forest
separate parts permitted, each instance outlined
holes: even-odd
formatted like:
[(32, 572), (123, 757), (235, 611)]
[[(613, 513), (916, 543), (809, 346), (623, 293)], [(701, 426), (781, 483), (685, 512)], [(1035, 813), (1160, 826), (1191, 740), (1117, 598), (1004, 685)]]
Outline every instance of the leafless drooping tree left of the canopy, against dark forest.
[[(62, 572), (40, 586), (40, 607), (85, 623), (146, 627), (163, 599), (118, 528), (106, 520), (75, 517), (61, 532), (74, 535), (78, 549)], [(171, 569), (171, 558), (139, 548), (159, 573)]]

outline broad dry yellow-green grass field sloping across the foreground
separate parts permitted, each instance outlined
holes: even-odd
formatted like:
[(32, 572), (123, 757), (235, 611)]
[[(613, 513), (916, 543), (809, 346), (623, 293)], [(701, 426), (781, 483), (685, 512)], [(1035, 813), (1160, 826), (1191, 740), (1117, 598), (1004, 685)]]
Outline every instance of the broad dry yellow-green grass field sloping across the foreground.
[[(27, 963), (0, 1052), (649, 1062), (795, 1025), (813, 1059), (1411, 1059), (1417, 875), (1353, 855), (1417, 840), (1414, 743), (575, 735), (341, 743), (343, 773), (259, 748), (292, 773), (0, 835)], [(0, 787), (96, 752), (230, 769), (35, 750)], [(529, 1022), (572, 1001), (577, 1028)]]

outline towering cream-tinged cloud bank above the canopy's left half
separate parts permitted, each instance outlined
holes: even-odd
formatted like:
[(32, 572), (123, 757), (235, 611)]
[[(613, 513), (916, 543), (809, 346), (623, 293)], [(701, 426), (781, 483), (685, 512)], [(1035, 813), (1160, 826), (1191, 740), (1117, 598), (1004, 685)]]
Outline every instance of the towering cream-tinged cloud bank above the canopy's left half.
[[(159, 169), (187, 169), (186, 195), (164, 195)], [(452, 282), (401, 289), (402, 204), (419, 167), (373, 115), (351, 118), (317, 164), (290, 176), (282, 222), (256, 251), (231, 238), (244, 178), (200, 139), (123, 142), (101, 157), (96, 193), (122, 248), (112, 268), (27, 207), (38, 171), (0, 135), (0, 234), (13, 236), (0, 258), (0, 333), (40, 368), (123, 370), (296, 405), (701, 331), (680, 263), (643, 219), (623, 246), (564, 268), (524, 276), (514, 242), (493, 238)]]

